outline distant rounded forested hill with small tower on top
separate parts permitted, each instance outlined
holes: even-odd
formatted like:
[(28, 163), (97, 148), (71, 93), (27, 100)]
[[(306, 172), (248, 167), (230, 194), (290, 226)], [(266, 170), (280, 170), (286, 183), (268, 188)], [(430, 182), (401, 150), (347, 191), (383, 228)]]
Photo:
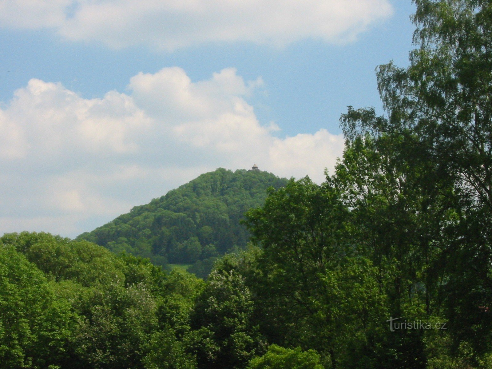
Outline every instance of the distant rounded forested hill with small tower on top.
[(249, 233), (240, 219), (248, 209), (263, 204), (268, 187), (278, 189), (286, 183), (264, 171), (219, 168), (78, 239), (149, 257), (158, 265), (203, 260), (211, 264), (232, 247), (246, 246)]

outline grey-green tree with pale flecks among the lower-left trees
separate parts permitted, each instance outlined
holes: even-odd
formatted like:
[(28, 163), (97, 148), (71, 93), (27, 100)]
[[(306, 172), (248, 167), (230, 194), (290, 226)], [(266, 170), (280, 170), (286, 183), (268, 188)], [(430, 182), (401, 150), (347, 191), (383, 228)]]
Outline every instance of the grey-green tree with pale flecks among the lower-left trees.
[(157, 329), (156, 303), (143, 284), (91, 289), (81, 301), (85, 321), (77, 353), (93, 368), (142, 368), (146, 342)]

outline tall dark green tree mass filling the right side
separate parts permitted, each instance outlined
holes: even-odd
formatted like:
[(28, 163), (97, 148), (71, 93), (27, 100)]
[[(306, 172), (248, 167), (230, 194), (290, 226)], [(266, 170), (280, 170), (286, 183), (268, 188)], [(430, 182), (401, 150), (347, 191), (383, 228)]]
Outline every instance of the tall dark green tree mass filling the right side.
[(414, 2), (385, 115), (349, 107), (333, 175), (247, 216), (265, 337), (326, 368), (492, 368), (492, 3)]

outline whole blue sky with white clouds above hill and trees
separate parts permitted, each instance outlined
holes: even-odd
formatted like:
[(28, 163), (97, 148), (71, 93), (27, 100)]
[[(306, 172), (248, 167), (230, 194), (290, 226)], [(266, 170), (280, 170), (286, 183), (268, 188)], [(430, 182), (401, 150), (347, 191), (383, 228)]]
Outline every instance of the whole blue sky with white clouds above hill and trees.
[(222, 167), (317, 183), (410, 0), (0, 0), (0, 234), (74, 238)]

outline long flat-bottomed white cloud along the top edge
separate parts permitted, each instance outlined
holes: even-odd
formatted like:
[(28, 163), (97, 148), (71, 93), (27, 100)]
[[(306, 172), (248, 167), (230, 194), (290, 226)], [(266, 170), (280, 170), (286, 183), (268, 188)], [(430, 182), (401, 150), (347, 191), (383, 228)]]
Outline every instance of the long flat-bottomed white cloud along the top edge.
[(50, 28), (69, 40), (157, 49), (210, 41), (282, 46), (349, 42), (388, 17), (388, 0), (3, 0), (0, 25)]

